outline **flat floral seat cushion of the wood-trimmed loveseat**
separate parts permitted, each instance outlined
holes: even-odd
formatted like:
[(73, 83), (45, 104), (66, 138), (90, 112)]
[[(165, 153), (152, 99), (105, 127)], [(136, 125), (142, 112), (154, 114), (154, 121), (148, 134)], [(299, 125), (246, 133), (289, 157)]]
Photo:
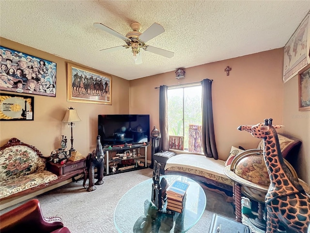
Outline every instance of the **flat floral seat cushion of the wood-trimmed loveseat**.
[(37, 171), (29, 175), (24, 175), (16, 179), (0, 181), (0, 199), (34, 188), (41, 184), (48, 184), (57, 180), (58, 176), (50, 171)]

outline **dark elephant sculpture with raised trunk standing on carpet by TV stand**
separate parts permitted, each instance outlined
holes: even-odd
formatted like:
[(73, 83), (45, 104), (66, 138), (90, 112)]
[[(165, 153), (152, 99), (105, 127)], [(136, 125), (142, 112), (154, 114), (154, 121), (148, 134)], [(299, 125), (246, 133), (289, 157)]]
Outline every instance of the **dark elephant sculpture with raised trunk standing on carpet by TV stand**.
[[(88, 176), (89, 176), (89, 186), (87, 191), (91, 192), (96, 190), (95, 185), (101, 185), (104, 183), (103, 181), (103, 172), (104, 172), (104, 164), (105, 164), (105, 156), (104, 151), (102, 150), (100, 136), (97, 136), (97, 148), (93, 150), (91, 154), (89, 154), (89, 161), (88, 161)], [(97, 167), (97, 177), (98, 181), (94, 183), (94, 168)], [(85, 186), (86, 179), (84, 180), (83, 186)], [(95, 184), (95, 185), (94, 185)]]

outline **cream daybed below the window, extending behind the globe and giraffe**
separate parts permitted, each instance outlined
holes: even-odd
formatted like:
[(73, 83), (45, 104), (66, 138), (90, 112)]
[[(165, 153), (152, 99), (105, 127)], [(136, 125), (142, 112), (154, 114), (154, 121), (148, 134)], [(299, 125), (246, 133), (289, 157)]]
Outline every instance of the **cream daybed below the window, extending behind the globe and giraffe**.
[[(297, 154), (301, 141), (291, 136), (279, 134), (279, 143), (283, 158), (292, 160)], [(257, 146), (263, 149), (263, 140)], [(214, 185), (230, 191), (232, 195), (233, 181), (224, 174), (224, 167), (230, 165), (234, 156), (244, 150), (232, 147), (226, 161), (207, 158), (198, 154), (178, 154), (169, 158), (165, 166), (165, 175), (179, 174), (203, 183)]]

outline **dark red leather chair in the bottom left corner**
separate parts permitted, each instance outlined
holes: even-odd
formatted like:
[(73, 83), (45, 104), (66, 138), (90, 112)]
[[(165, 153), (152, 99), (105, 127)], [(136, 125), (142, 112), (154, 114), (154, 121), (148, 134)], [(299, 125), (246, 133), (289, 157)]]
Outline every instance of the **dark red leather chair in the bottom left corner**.
[(70, 233), (60, 217), (44, 217), (39, 200), (32, 199), (0, 216), (1, 233)]

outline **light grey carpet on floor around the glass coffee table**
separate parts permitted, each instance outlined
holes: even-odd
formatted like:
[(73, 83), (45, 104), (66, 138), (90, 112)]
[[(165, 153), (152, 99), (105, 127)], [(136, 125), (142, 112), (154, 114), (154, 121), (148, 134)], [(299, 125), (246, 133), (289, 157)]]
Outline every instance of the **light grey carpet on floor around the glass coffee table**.
[[(68, 183), (35, 197), (44, 216), (60, 216), (72, 233), (117, 233), (113, 216), (118, 200), (131, 187), (152, 177), (152, 169), (141, 169), (104, 177), (103, 185), (87, 192), (83, 181)], [(150, 190), (151, 191), (151, 190)], [(207, 204), (202, 218), (188, 233), (207, 233), (212, 215), (217, 213), (234, 219), (233, 205), (225, 195), (204, 187)], [(137, 197), (139, 198), (139, 197)], [(24, 203), (24, 202), (22, 202)], [(1, 214), (22, 204), (1, 211)]]

